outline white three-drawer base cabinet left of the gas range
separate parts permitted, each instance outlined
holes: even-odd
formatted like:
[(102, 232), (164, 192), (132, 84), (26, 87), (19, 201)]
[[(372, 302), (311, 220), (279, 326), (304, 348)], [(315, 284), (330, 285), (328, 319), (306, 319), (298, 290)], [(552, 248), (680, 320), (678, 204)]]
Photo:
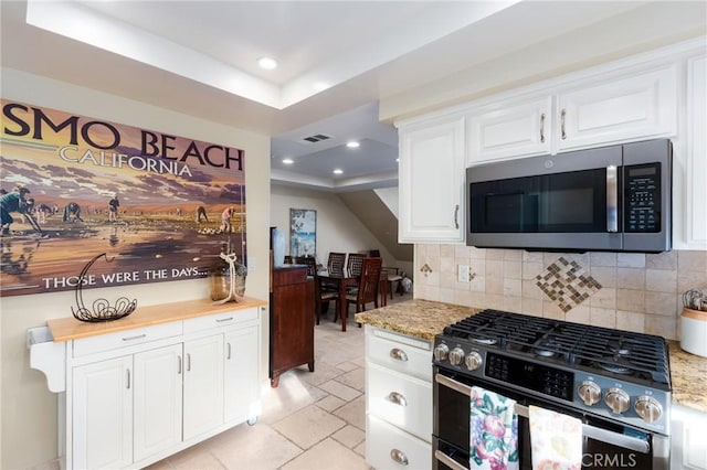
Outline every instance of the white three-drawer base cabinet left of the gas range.
[(432, 343), (366, 325), (366, 461), (432, 466)]

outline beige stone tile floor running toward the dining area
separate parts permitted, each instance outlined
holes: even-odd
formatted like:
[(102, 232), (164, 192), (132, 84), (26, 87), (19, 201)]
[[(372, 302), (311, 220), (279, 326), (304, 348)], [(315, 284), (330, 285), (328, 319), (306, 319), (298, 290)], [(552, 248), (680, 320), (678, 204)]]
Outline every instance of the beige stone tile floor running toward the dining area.
[[(410, 299), (394, 295), (392, 302)], [(331, 318), (315, 325), (315, 372), (304, 365), (281, 375), (277, 388), (266, 386), (254, 426), (236, 426), (149, 469), (369, 469), (363, 329), (349, 314), (344, 333)]]

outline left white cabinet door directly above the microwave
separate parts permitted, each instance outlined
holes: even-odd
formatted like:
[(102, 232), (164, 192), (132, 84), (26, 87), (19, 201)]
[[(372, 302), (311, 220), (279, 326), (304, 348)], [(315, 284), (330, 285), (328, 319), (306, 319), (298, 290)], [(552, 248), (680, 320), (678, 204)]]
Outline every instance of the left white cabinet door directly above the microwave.
[(500, 103), (468, 116), (467, 165), (505, 157), (550, 152), (552, 98)]

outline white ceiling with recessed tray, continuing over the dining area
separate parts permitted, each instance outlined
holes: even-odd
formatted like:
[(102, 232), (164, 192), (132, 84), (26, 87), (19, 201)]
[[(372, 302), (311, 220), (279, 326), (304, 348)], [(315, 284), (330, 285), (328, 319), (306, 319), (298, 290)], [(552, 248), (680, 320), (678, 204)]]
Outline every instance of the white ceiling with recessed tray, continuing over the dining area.
[(2, 1), (2, 66), (265, 133), (273, 181), (340, 192), (397, 184), (381, 98), (645, 3)]

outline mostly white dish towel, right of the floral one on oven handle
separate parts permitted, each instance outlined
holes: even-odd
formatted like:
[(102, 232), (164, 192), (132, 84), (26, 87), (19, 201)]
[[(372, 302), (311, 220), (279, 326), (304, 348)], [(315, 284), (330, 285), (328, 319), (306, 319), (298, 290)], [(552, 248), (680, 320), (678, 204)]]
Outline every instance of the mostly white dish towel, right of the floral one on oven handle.
[(528, 407), (534, 470), (580, 470), (582, 421), (549, 409)]

